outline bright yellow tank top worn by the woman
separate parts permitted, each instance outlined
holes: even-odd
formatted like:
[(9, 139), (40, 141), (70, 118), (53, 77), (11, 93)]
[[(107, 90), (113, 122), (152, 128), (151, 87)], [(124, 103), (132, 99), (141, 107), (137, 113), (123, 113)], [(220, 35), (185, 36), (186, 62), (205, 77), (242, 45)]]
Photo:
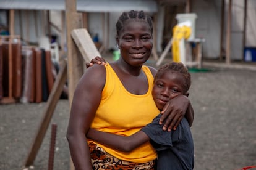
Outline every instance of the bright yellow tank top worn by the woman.
[[(151, 95), (153, 75), (146, 66), (143, 66), (142, 70), (148, 79), (148, 92), (143, 95), (135, 95), (126, 90), (113, 68), (109, 64), (106, 65), (106, 83), (101, 94), (100, 106), (96, 111), (91, 128), (103, 132), (130, 136), (138, 132), (146, 124), (151, 123), (160, 111), (156, 107)], [(97, 142), (94, 143), (98, 144)], [(113, 150), (105, 145), (98, 145), (109, 154), (121, 160), (145, 163), (156, 158), (156, 152), (149, 142), (129, 153)]]

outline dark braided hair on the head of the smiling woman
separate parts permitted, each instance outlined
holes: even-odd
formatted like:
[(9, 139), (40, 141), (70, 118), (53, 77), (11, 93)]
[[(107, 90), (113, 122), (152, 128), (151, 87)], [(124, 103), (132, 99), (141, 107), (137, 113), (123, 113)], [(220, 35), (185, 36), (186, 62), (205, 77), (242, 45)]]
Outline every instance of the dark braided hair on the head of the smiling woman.
[(150, 32), (153, 33), (153, 21), (150, 15), (145, 14), (143, 10), (130, 10), (129, 12), (123, 12), (116, 23), (116, 33), (119, 36), (120, 31), (124, 28), (124, 22), (126, 20), (145, 20), (150, 27)]

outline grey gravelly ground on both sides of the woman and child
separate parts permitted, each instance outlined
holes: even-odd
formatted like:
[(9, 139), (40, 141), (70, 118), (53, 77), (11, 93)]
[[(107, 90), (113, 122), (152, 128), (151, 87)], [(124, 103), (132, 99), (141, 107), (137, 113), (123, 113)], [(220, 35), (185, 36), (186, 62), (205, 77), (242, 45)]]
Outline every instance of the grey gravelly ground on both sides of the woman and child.
[[(194, 169), (236, 170), (256, 165), (256, 71), (207, 68), (210, 70), (191, 72)], [(23, 169), (45, 105), (0, 105), (1, 170)], [(51, 119), (51, 124), (57, 124), (56, 170), (70, 169), (66, 140), (68, 120), (69, 102), (61, 99)], [(48, 169), (51, 124), (31, 168)]]

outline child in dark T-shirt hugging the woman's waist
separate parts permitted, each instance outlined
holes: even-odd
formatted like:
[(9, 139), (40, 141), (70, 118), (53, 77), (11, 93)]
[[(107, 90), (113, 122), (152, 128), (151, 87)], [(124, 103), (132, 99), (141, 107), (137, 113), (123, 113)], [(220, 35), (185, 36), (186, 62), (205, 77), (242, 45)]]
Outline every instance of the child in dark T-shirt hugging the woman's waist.
[[(190, 73), (182, 63), (169, 63), (160, 67), (153, 86), (153, 99), (161, 111), (169, 100), (177, 95), (188, 95), (191, 84)], [(158, 153), (158, 170), (181, 170), (194, 168), (194, 144), (190, 126), (183, 118), (176, 131), (163, 131), (158, 124), (160, 115), (132, 136), (117, 136), (90, 129), (87, 137), (124, 152), (150, 140)]]

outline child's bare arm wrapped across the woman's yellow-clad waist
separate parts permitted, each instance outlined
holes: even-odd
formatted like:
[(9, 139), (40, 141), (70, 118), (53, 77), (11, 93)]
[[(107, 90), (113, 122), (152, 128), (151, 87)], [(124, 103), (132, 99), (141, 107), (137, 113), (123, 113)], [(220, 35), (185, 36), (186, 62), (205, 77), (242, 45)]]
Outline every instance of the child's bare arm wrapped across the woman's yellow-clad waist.
[(149, 140), (149, 137), (143, 131), (136, 132), (131, 136), (121, 136), (89, 129), (87, 137), (122, 152), (130, 152)]

